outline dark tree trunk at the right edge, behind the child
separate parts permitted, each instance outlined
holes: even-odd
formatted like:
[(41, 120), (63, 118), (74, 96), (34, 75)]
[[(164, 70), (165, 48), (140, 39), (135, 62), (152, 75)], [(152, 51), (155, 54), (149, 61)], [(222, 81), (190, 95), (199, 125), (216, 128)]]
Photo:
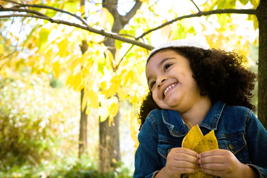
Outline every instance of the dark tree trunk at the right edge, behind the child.
[(259, 22), (258, 118), (267, 129), (267, 1), (261, 0), (256, 10)]

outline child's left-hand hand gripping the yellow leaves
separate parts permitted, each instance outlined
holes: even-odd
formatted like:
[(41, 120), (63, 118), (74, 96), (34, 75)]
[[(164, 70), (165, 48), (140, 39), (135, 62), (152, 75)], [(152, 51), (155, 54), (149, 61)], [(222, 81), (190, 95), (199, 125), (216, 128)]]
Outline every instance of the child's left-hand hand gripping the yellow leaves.
[(198, 167), (197, 155), (187, 148), (172, 148), (167, 156), (165, 176), (177, 178), (184, 173), (195, 173)]

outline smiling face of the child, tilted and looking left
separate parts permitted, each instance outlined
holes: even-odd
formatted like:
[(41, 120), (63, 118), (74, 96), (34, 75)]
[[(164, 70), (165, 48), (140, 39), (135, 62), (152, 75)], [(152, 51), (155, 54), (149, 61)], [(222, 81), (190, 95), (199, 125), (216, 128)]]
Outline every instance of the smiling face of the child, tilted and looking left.
[(146, 66), (148, 86), (162, 109), (189, 111), (201, 100), (189, 61), (168, 50), (153, 55)]

